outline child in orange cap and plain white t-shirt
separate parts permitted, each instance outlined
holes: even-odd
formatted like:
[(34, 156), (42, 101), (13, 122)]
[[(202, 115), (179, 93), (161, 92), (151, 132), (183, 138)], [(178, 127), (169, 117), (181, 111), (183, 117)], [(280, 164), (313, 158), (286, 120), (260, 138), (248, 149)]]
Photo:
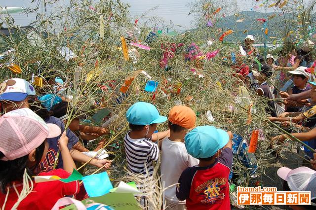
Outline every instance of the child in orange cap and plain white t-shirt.
[(186, 168), (198, 164), (198, 160), (188, 154), (183, 142), (187, 131), (195, 127), (196, 119), (196, 113), (191, 108), (183, 105), (174, 106), (169, 112), (170, 137), (160, 141), (161, 181), (162, 185), (167, 188), (164, 196), (168, 210), (185, 209), (185, 201), (181, 202), (176, 197), (175, 184), (178, 183), (181, 173)]

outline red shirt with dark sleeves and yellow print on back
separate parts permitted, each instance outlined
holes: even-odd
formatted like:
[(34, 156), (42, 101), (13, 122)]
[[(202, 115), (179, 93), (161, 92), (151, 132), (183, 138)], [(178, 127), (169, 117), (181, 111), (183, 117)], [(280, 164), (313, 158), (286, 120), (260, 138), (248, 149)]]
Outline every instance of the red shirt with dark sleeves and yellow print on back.
[(187, 168), (179, 178), (176, 196), (186, 200), (188, 210), (230, 210), (228, 177), (232, 163), (232, 149), (224, 148), (214, 164)]

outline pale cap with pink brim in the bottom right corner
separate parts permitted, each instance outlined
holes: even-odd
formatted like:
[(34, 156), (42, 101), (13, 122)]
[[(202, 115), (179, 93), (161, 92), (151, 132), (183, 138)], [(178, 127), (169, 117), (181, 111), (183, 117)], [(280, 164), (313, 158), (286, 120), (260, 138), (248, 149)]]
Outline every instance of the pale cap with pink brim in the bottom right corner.
[(311, 191), (311, 199), (316, 198), (316, 171), (305, 166), (297, 169), (279, 168), (277, 175), (287, 181), (292, 191)]

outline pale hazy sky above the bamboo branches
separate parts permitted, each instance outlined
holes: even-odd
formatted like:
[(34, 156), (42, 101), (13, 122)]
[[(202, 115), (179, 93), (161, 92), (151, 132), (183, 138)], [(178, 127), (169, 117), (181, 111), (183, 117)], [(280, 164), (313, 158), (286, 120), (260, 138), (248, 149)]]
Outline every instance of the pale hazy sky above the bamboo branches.
[[(183, 29), (192, 28), (191, 22), (193, 16), (188, 16), (191, 8), (189, 4), (194, 3), (196, 0), (121, 0), (127, 2), (131, 5), (130, 14), (135, 19), (142, 14), (146, 13), (147, 16), (160, 16), (164, 19), (165, 23), (168, 24), (170, 21), (173, 24), (181, 25)], [(259, 5), (265, 0), (223, 0), (229, 2), (233, 6), (235, 11), (249, 11), (255, 5)], [(271, 3), (273, 0), (270, 0)], [(311, 0), (303, 0), (306, 5), (309, 4)], [(0, 0), (0, 6), (22, 6), (22, 7), (35, 7), (36, 3), (30, 3), (31, 0)], [(69, 4), (69, 0), (59, 0), (59, 4)], [(157, 6), (157, 9), (150, 10)], [(50, 10), (51, 8), (48, 8)], [(150, 11), (149, 11), (150, 10)], [(262, 11), (259, 8), (256, 11)], [(269, 11), (268, 11), (269, 12)], [(3, 15), (0, 15), (1, 18)], [(36, 14), (31, 14), (26, 16), (25, 14), (12, 14), (15, 19), (15, 23), (21, 26), (27, 26), (29, 23), (36, 19)]]

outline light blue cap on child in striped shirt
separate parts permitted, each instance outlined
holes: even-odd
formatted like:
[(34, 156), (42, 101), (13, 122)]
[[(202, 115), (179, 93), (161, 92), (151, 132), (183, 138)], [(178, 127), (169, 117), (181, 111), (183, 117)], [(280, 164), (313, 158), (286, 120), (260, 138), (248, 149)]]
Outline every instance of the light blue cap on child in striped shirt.
[(126, 119), (133, 125), (151, 125), (163, 123), (167, 117), (159, 115), (157, 108), (146, 102), (137, 102), (126, 112)]

